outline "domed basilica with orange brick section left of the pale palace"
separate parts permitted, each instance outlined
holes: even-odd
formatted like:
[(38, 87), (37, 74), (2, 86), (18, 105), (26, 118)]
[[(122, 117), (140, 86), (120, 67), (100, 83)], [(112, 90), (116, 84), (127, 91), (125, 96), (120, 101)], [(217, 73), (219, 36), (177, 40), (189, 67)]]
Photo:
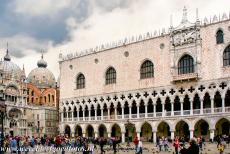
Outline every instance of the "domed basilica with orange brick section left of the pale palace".
[(52, 136), (58, 131), (59, 88), (47, 62), (37, 62), (28, 77), (6, 51), (0, 61), (1, 103), (5, 104), (4, 134)]

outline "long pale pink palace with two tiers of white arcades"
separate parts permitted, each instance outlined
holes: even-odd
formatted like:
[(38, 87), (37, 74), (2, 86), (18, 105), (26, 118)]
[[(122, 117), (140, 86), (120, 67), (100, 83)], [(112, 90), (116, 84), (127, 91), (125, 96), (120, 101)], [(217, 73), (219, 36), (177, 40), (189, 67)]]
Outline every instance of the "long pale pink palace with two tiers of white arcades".
[(60, 132), (192, 138), (230, 134), (230, 15), (187, 19), (60, 55)]

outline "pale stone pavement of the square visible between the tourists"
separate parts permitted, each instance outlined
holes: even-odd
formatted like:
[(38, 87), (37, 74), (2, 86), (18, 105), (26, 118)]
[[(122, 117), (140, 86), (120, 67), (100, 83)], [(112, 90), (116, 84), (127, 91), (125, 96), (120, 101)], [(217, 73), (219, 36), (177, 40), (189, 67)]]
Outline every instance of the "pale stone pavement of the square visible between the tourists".
[[(127, 147), (126, 144), (121, 144), (121, 149), (117, 152), (117, 154), (135, 154), (134, 145), (130, 145)], [(172, 154), (174, 152), (172, 145), (170, 145), (169, 151), (161, 151), (156, 148), (154, 144), (151, 143), (143, 143), (143, 154)], [(164, 150), (164, 149), (163, 149)], [(105, 147), (106, 154), (113, 154), (112, 149), (109, 146)], [(37, 152), (29, 152), (29, 154), (52, 154), (52, 151), (45, 152), (44, 150), (37, 151)], [(216, 148), (216, 144), (207, 144), (204, 147), (204, 150), (201, 152), (202, 154), (219, 154)], [(10, 152), (7, 152), (10, 154)], [(24, 154), (24, 153), (23, 153)], [(61, 151), (57, 151), (56, 154), (61, 154)], [(65, 154), (82, 154), (82, 152), (73, 152), (73, 151), (66, 151)], [(100, 147), (97, 146), (97, 149), (94, 150), (93, 154), (100, 154)], [(224, 154), (230, 154), (230, 146), (226, 147)]]

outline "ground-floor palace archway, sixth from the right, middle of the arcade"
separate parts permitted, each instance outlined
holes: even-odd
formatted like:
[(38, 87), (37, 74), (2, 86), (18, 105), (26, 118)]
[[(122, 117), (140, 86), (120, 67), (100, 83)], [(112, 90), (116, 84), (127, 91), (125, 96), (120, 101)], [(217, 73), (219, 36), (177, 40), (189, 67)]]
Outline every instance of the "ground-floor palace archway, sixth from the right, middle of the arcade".
[(126, 123), (125, 124), (125, 138), (127, 141), (133, 141), (133, 139), (136, 137), (136, 128), (133, 123)]

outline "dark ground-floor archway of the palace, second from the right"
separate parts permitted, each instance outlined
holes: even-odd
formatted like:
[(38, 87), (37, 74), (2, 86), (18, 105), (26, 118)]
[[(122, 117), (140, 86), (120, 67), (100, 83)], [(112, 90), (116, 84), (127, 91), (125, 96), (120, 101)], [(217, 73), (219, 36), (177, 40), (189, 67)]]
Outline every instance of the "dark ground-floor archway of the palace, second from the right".
[(204, 136), (205, 138), (209, 138), (209, 125), (205, 120), (199, 120), (194, 128), (194, 135), (196, 137)]

